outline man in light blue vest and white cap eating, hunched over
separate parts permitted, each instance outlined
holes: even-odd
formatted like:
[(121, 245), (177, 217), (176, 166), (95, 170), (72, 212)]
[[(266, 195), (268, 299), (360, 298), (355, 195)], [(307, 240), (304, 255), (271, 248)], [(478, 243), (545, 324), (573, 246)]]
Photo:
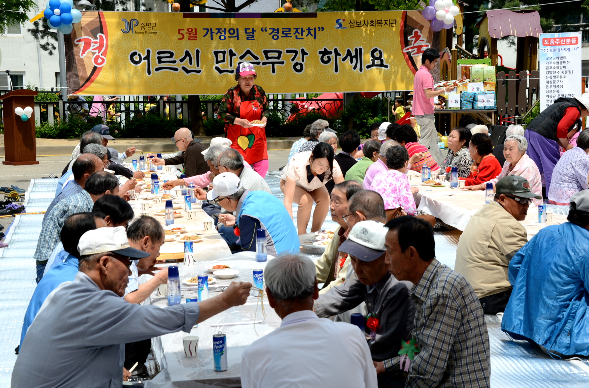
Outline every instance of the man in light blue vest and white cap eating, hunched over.
[(256, 251), (256, 231), (266, 230), (268, 254), (299, 253), (299, 236), (283, 203), (266, 191), (249, 191), (233, 173), (222, 173), (213, 179), (213, 190), (207, 200), (216, 201), (233, 214), (220, 214), (219, 222), (234, 227), (242, 251)]

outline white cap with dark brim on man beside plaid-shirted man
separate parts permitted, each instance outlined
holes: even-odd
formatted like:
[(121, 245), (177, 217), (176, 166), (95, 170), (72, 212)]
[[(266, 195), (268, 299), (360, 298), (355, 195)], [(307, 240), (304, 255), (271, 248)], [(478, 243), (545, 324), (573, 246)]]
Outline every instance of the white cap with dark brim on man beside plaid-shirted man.
[(378, 221), (360, 221), (350, 231), (348, 239), (339, 247), (359, 260), (370, 262), (385, 253), (385, 237), (389, 230)]

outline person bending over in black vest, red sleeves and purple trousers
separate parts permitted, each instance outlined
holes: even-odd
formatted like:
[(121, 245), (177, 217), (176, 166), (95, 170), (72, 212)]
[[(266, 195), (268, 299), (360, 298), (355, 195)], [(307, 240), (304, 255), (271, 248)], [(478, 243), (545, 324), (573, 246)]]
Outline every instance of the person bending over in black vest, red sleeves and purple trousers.
[(568, 143), (577, 129), (575, 122), (589, 115), (589, 93), (576, 97), (561, 97), (541, 111), (525, 128), (528, 141), (528, 156), (536, 163), (540, 174), (544, 174), (546, 193), (550, 189), (552, 171), (560, 159), (559, 146), (564, 150), (573, 148)]

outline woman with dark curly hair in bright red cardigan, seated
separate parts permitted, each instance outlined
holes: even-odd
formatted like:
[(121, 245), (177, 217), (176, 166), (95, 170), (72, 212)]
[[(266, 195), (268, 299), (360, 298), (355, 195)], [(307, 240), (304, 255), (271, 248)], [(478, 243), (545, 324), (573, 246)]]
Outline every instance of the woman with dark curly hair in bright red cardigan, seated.
[(465, 186), (472, 186), (488, 182), (501, 173), (501, 164), (493, 152), (493, 142), (487, 134), (474, 134), (468, 145), (468, 152), (471, 154), (474, 163), (471, 165), (471, 173), (465, 180)]

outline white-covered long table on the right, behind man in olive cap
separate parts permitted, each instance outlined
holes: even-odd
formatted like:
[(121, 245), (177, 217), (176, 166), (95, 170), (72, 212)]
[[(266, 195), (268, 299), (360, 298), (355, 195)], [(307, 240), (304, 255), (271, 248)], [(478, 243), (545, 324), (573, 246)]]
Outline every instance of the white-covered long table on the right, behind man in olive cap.
[[(421, 177), (409, 176), (409, 183), (419, 188), (419, 192), (415, 194), (417, 209), (439, 218), (458, 230), (464, 231), (472, 215), (485, 205), (485, 190), (461, 190), (449, 187), (449, 183), (446, 183), (448, 186), (445, 187), (431, 187), (419, 183)], [(521, 224), (524, 225), (530, 239), (542, 228), (566, 221), (565, 215), (553, 214), (552, 222), (538, 223), (538, 207), (532, 203), (527, 217)]]

